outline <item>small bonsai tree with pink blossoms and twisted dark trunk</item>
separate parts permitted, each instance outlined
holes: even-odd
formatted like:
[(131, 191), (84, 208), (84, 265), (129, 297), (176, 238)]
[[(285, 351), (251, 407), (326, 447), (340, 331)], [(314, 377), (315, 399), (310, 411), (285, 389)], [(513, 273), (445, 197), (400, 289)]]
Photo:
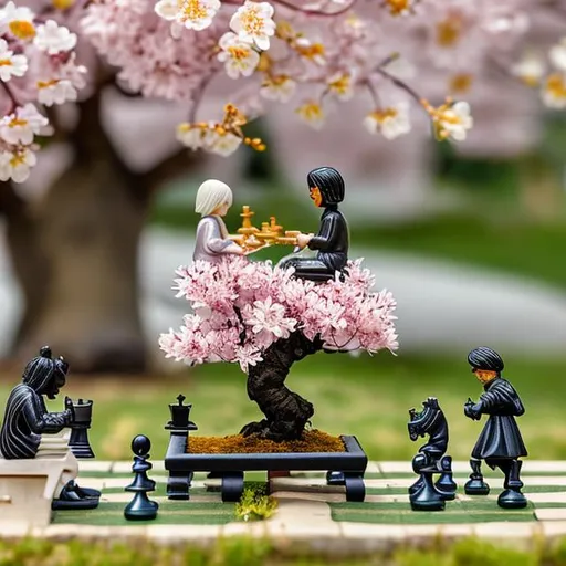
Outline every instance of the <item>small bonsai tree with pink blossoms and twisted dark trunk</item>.
[(318, 350), (376, 353), (398, 348), (395, 300), (371, 292), (374, 275), (361, 260), (325, 283), (226, 256), (177, 271), (177, 296), (190, 303), (179, 331), (159, 340), (167, 357), (188, 365), (233, 361), (248, 374), (248, 394), (265, 419), (242, 429), (272, 440), (301, 438), (313, 406), (285, 387), (292, 364)]

